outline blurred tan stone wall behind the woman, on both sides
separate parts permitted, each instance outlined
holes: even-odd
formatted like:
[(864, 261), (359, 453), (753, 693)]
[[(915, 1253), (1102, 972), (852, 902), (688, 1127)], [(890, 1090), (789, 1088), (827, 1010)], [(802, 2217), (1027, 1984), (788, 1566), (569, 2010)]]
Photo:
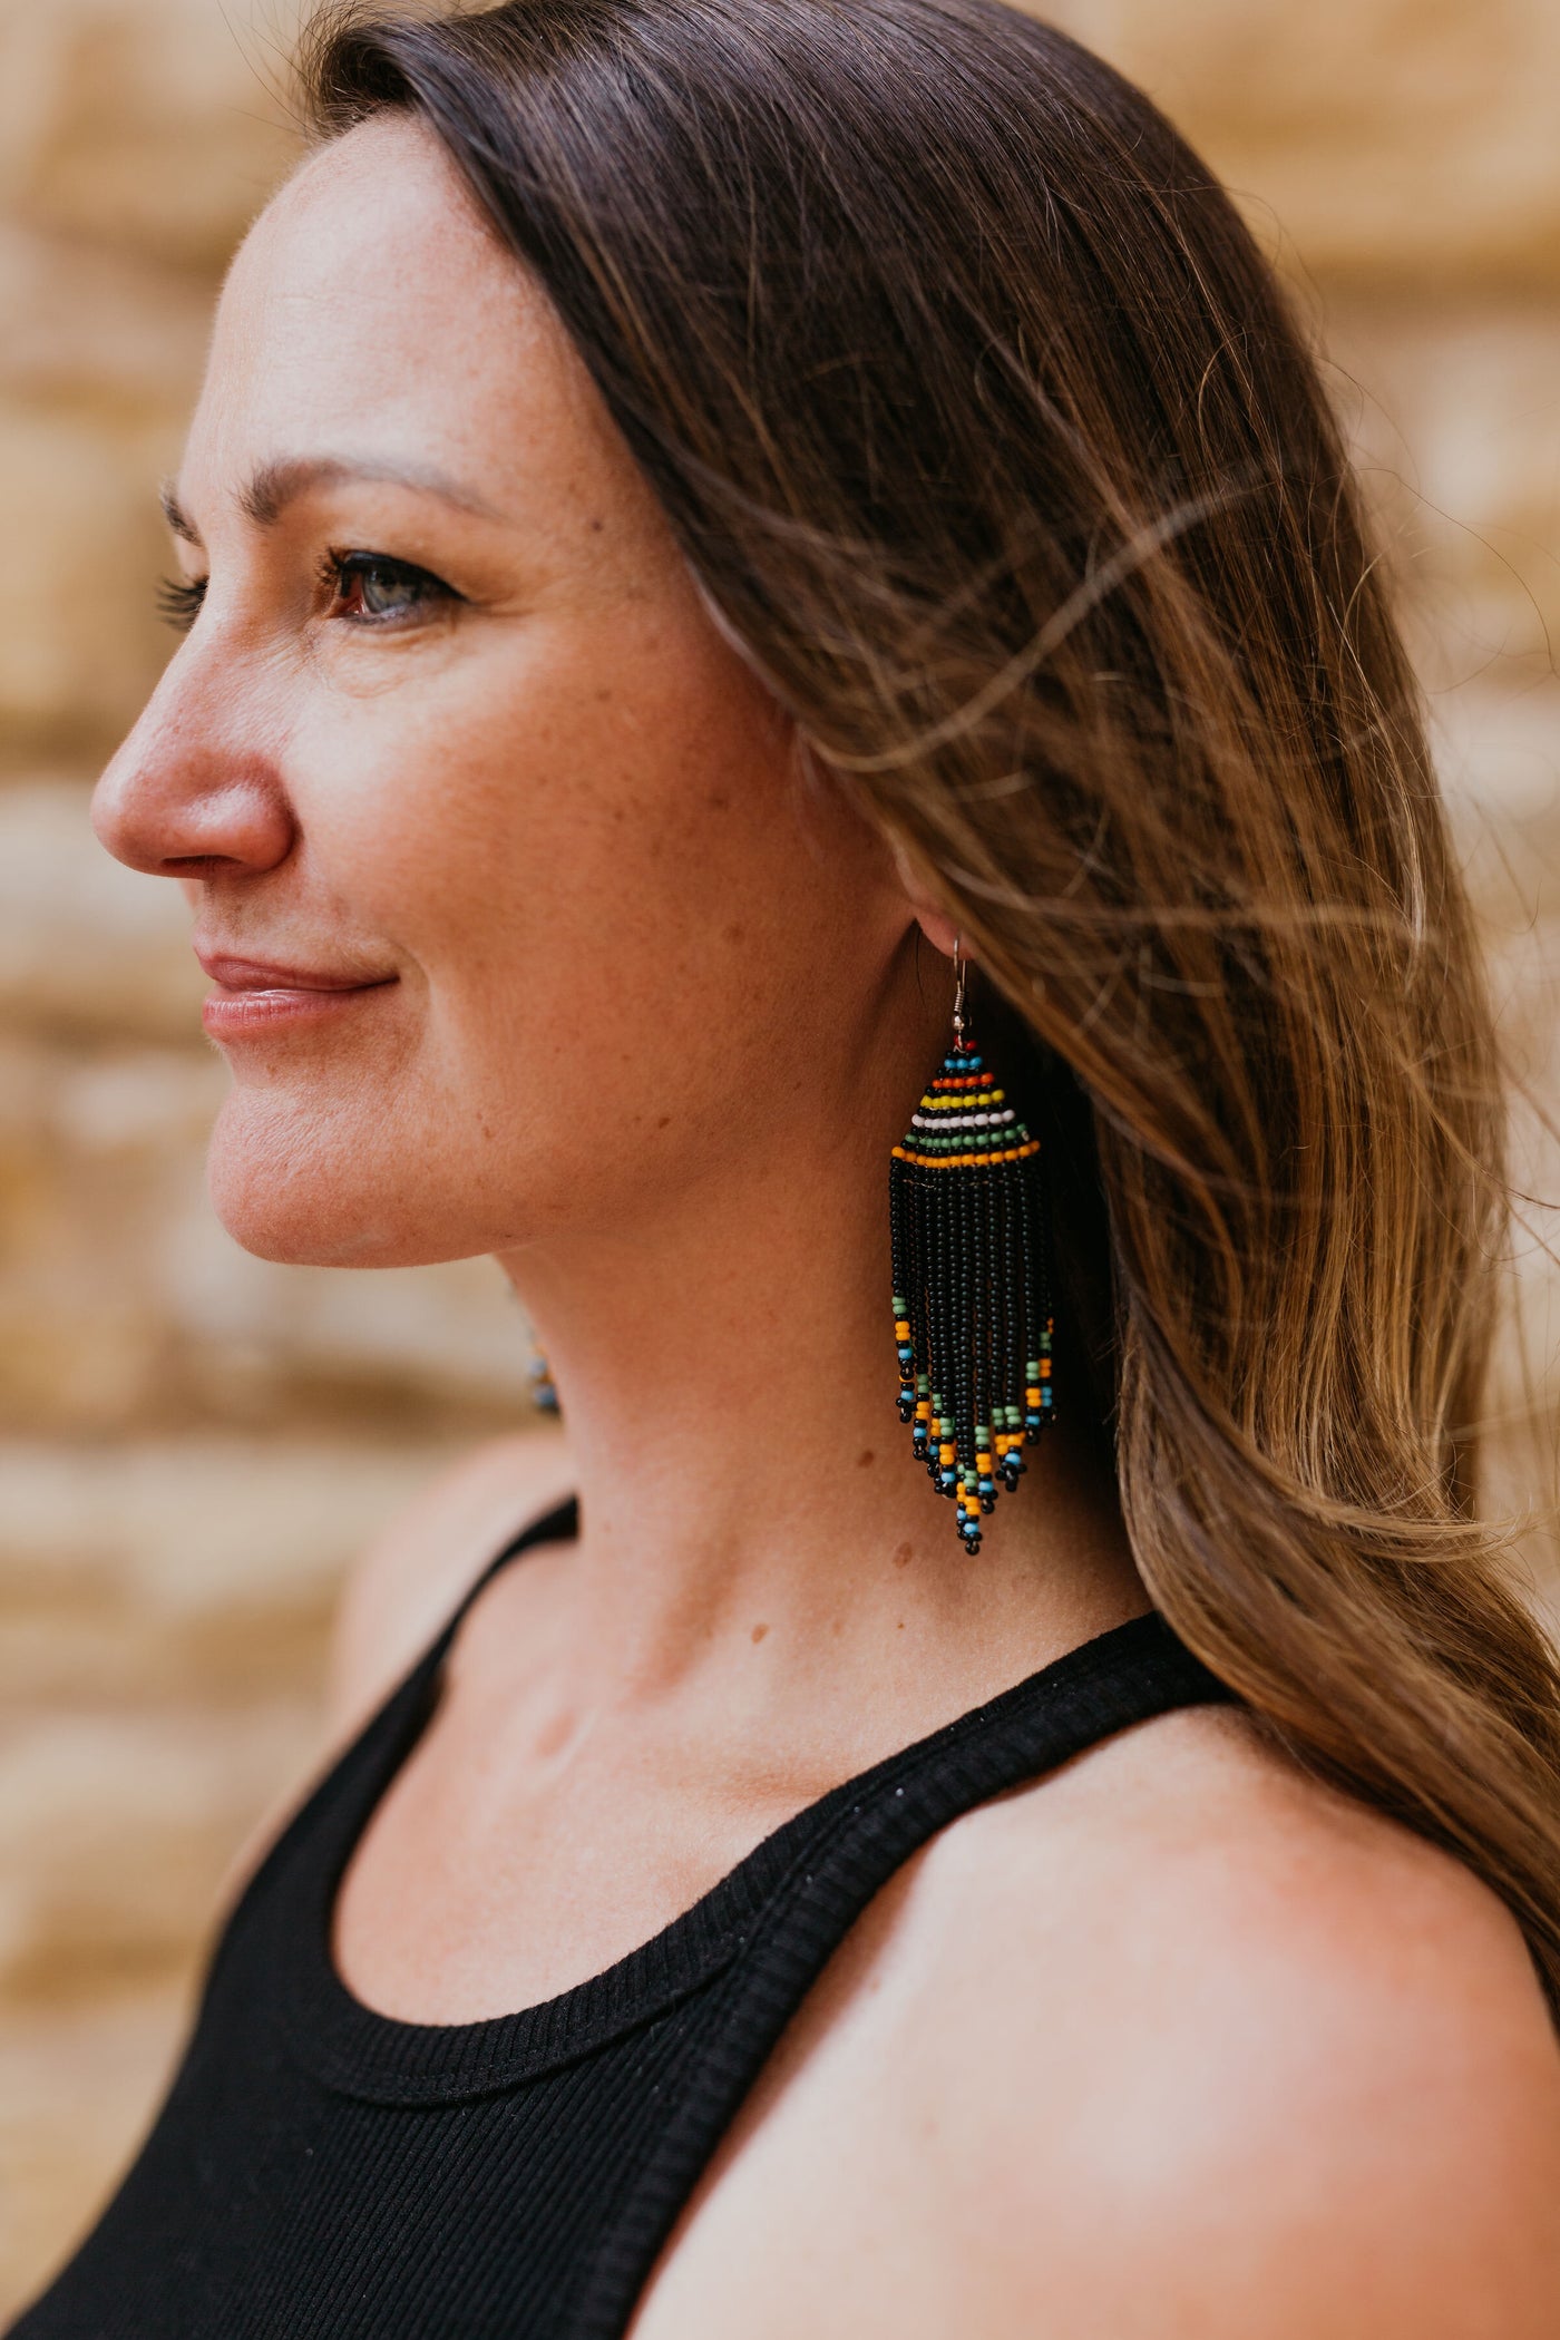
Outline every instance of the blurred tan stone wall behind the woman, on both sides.
[[(341, 1565), (524, 1411), (489, 1266), (278, 1271), (227, 1243), (182, 906), (87, 831), (168, 648), (154, 482), (218, 274), (292, 152), (292, 5), (0, 0), (0, 2314), (131, 2150), (215, 1879), (311, 1762)], [(1062, 21), (1223, 168), (1333, 351), (1513, 1053), (1553, 1100), (1560, 12)], [(1527, 1275), (1541, 1364), (1537, 1252)], [(1534, 1486), (1513, 1446), (1509, 1488)]]

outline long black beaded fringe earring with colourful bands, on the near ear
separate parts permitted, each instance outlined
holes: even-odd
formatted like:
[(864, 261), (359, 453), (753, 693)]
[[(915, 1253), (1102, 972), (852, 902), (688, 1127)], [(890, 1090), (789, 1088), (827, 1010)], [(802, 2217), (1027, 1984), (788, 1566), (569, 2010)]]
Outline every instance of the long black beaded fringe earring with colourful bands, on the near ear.
[(889, 1163), (898, 1413), (966, 1551), (1052, 1420), (1041, 1142), (975, 1051), (954, 943), (954, 1044)]

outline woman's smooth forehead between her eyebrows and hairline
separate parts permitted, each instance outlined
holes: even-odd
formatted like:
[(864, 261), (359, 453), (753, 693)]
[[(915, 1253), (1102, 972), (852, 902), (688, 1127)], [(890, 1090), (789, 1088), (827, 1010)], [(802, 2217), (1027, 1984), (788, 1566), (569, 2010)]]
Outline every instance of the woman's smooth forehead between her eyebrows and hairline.
[[(430, 131), (386, 115), (313, 154), (229, 271), (185, 477), (334, 447), (491, 470), (608, 459), (552, 304)], [(627, 449), (624, 449), (627, 454)]]

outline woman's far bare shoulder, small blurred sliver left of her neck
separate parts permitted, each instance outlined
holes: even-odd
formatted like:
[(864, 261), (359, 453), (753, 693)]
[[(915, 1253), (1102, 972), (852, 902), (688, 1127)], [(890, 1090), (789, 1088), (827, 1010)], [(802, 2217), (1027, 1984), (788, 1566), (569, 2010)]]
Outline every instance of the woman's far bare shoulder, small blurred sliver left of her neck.
[(374, 1537), (337, 1608), (325, 1715), (332, 1741), (414, 1664), (505, 1537), (571, 1486), (568, 1441), (550, 1423), (475, 1446)]

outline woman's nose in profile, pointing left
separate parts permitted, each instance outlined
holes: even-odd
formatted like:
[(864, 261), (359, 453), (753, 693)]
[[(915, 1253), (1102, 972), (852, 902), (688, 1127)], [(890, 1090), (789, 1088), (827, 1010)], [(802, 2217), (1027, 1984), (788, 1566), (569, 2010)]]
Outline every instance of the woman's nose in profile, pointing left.
[(91, 826), (115, 861), (152, 878), (269, 870), (295, 838), (281, 772), (239, 737), (243, 704), (175, 658), (103, 772)]

